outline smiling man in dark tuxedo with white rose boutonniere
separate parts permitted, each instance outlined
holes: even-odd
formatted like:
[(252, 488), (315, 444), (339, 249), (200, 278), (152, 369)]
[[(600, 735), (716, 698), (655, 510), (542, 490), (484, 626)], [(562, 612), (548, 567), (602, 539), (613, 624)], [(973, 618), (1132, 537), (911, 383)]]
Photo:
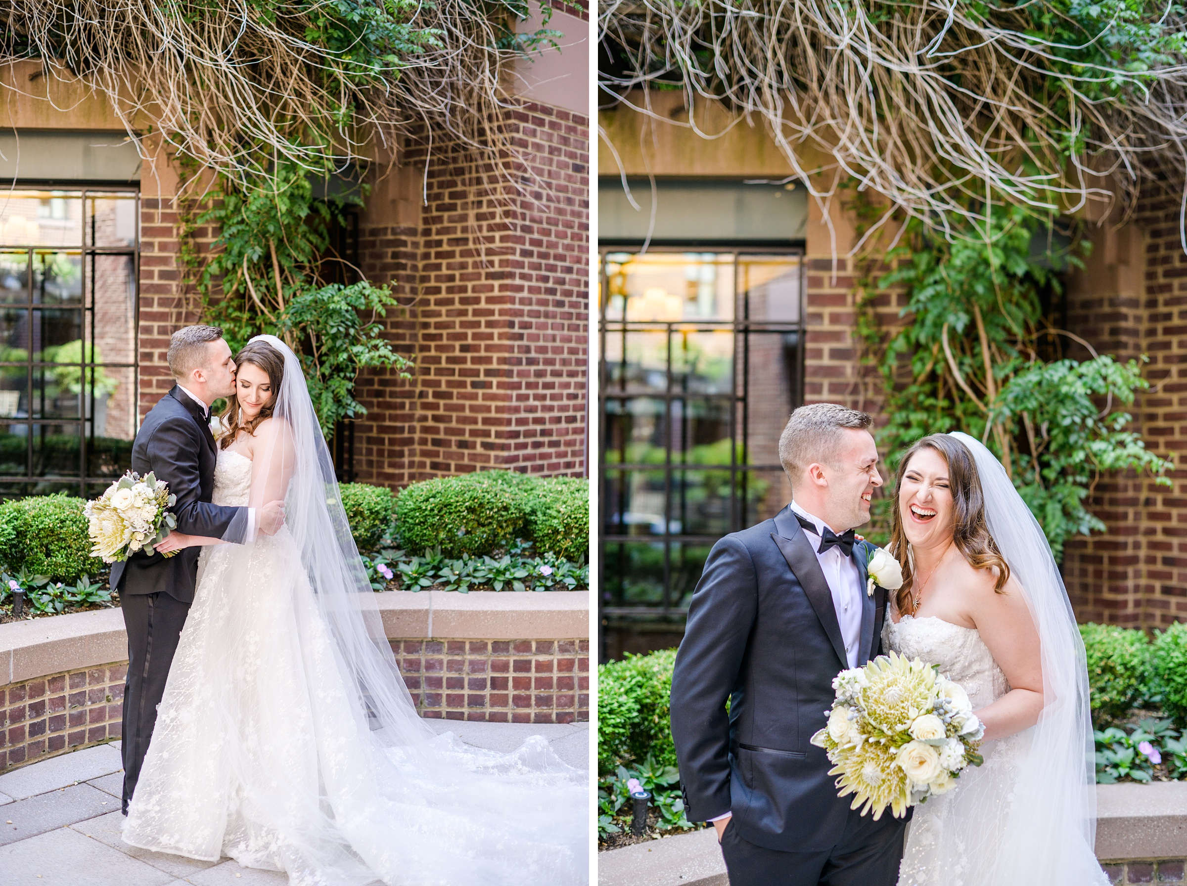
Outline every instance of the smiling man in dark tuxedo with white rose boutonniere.
[[(731, 886), (893, 886), (906, 822), (838, 798), (823, 748), (832, 678), (881, 646), (887, 592), (867, 593), (853, 527), (882, 485), (872, 420), (792, 413), (779, 457), (792, 503), (713, 546), (672, 675), (687, 816), (717, 828)], [(730, 702), (729, 712), (725, 709)]]

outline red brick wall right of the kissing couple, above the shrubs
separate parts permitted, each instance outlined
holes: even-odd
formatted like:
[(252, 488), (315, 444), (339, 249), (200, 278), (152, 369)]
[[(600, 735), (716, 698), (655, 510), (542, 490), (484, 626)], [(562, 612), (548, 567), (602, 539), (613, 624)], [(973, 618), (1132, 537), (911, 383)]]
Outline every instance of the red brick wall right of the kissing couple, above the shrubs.
[(436, 148), (419, 228), (363, 231), (363, 273), (410, 297), (389, 329), (418, 366), (407, 382), (360, 380), (361, 480), (585, 472), (588, 125), (559, 108), (515, 110), (522, 190)]

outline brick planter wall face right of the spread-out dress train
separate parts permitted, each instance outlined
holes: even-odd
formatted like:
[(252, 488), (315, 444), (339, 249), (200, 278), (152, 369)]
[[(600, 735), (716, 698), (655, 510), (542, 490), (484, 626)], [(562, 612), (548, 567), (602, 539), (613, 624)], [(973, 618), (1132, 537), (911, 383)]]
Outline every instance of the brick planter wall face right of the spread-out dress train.
[(421, 716), (502, 724), (589, 720), (589, 649), (586, 639), (392, 640)]

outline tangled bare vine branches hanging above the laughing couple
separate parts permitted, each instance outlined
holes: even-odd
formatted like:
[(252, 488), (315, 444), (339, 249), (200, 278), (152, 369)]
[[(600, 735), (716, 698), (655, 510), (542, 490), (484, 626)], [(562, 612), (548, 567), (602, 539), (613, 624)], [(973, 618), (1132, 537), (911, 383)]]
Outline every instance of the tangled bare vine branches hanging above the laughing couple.
[[(960, 0), (608, 0), (598, 38), (620, 64), (599, 85), (643, 114), (646, 90), (683, 88), (684, 126), (705, 138), (719, 133), (702, 129), (697, 97), (728, 109), (728, 126), (756, 115), (821, 203), (836, 184), (805, 167), (805, 148), (950, 238), (969, 222), (985, 230), (1003, 203), (1046, 215), (1119, 202), (1128, 216), (1143, 179), (1181, 183), (1182, 59), (1073, 66), (1060, 52), (1093, 38), (1035, 37), (1030, 5), (975, 17)], [(1162, 26), (1185, 23), (1167, 13)]]

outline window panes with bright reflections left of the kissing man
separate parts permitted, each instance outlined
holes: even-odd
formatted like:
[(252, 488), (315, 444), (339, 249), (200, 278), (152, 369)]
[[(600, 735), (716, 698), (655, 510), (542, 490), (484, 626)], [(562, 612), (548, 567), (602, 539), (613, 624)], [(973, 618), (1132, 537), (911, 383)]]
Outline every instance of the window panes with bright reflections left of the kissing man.
[(88, 496), (131, 465), (135, 191), (0, 197), (0, 496)]

